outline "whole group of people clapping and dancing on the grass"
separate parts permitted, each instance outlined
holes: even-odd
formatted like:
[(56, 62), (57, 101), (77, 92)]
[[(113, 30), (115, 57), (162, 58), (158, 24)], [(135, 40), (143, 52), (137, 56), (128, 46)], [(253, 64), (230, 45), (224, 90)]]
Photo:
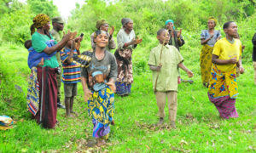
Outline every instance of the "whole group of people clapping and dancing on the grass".
[[(98, 20), (96, 31), (90, 36), (92, 51), (80, 54), (83, 34), (76, 37), (77, 32), (68, 31), (61, 36), (64, 22), (60, 17), (52, 19), (52, 31), (49, 31), (50, 20), (46, 14), (38, 14), (33, 19), (32, 40), (25, 43), (29, 51), (28, 65), (32, 70), (27, 94), (28, 110), (32, 112), (32, 118), (45, 128), (55, 127), (57, 102), (60, 102), (60, 80), (64, 83), (66, 115), (73, 116), (77, 83), (81, 82), (84, 100), (88, 102), (88, 113), (94, 126), (93, 137), (98, 144), (105, 143), (104, 139), (108, 139), (110, 132), (109, 126), (114, 125), (114, 94), (131, 94), (131, 55), (133, 49), (143, 41), (136, 37), (131, 19), (123, 18), (121, 23), (122, 28), (117, 34), (117, 48), (113, 40), (113, 26), (108, 31), (108, 22)], [(224, 38), (221, 38), (220, 31), (214, 30), (216, 24), (217, 20), (210, 18), (208, 30), (201, 33), (202, 82), (209, 88), (208, 97), (217, 107), (220, 116), (237, 117), (236, 70), (244, 72), (241, 65), (241, 42), (235, 38), (235, 22), (224, 24)], [(183, 65), (184, 59), (179, 52), (184, 44), (181, 33), (182, 30), (175, 30), (173, 20), (166, 20), (165, 28), (157, 31), (159, 44), (152, 48), (148, 59), (159, 108), (160, 120), (157, 125), (164, 122), (167, 97), (172, 128), (176, 128), (177, 85), (182, 81), (179, 69), (189, 77), (194, 76)], [(256, 37), (253, 43), (256, 43)], [(110, 50), (115, 48), (116, 51), (112, 54)], [(57, 79), (58, 75), (61, 79)]]

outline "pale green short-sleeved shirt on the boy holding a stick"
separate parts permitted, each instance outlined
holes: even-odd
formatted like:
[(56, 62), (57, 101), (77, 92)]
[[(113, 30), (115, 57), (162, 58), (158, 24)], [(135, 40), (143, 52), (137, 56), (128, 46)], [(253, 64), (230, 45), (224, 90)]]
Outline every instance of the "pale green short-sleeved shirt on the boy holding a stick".
[[(148, 65), (158, 66), (160, 65), (160, 52), (162, 44), (153, 48), (150, 52)], [(153, 88), (157, 75), (156, 90), (160, 92), (177, 91), (177, 65), (183, 62), (183, 56), (178, 52), (174, 46), (166, 45), (163, 47), (161, 56), (161, 70), (153, 71)]]

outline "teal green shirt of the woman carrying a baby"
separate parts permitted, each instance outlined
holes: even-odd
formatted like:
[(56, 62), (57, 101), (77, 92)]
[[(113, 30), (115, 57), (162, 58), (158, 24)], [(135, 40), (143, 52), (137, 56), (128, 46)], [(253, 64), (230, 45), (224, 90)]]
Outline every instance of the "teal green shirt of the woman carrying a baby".
[[(43, 52), (47, 47), (45, 42), (48, 42), (50, 38), (47, 35), (42, 35), (36, 31), (32, 35), (32, 48), (34, 48), (37, 52)], [(44, 66), (49, 66), (50, 68), (56, 68), (59, 66), (56, 56), (53, 55), (50, 59), (44, 59)]]

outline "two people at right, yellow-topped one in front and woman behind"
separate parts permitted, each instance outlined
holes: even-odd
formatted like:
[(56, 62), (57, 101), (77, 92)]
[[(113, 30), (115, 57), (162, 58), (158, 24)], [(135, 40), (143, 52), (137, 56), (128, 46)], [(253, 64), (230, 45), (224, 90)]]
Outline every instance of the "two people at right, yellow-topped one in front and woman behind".
[(221, 118), (238, 117), (236, 97), (238, 87), (236, 77), (244, 73), (241, 64), (241, 45), (236, 23), (226, 22), (223, 26), (225, 37), (214, 28), (217, 20), (209, 18), (208, 30), (201, 31), (201, 80), (208, 88), (208, 98), (218, 109)]

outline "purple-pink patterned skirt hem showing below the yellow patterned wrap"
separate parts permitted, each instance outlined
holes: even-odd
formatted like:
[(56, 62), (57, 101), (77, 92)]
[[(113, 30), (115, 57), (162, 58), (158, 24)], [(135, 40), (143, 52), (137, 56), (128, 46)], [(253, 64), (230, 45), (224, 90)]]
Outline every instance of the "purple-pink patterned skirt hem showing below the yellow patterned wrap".
[(218, 99), (212, 99), (211, 95), (208, 94), (211, 102), (216, 106), (219, 116), (224, 119), (236, 118), (238, 113), (236, 111), (236, 99), (230, 99), (230, 96), (220, 97)]

